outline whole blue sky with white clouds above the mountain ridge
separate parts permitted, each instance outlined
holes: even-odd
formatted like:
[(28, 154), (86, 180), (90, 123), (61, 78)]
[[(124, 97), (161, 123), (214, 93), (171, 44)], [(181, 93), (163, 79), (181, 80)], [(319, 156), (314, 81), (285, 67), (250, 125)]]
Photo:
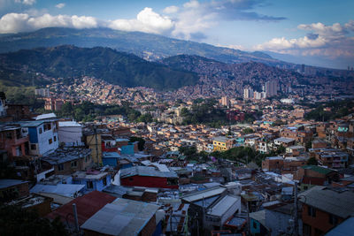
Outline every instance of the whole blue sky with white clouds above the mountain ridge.
[(0, 0), (0, 34), (42, 27), (142, 31), (354, 66), (353, 0)]

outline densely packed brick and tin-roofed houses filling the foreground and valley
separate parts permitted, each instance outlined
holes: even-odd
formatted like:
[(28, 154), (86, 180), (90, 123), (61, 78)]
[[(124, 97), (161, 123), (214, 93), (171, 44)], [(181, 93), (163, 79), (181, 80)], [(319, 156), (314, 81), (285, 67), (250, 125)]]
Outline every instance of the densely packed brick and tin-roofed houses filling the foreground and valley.
[[(142, 106), (145, 122), (58, 117), (48, 88), (36, 91), (42, 114), (1, 93), (1, 202), (74, 235), (349, 235), (353, 108), (308, 119), (313, 109), (298, 101), (244, 90), (243, 100)], [(186, 124), (199, 102), (224, 110), (228, 124)]]

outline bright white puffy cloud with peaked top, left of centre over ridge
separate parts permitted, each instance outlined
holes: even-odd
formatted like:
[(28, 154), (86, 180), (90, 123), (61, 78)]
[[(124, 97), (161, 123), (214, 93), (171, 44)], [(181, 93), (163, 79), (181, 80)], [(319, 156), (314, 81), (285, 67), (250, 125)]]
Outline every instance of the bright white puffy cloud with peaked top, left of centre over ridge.
[(142, 31), (145, 33), (165, 34), (174, 27), (174, 22), (166, 16), (161, 16), (151, 8), (145, 7), (138, 13), (136, 19), (116, 19), (108, 27), (126, 31)]

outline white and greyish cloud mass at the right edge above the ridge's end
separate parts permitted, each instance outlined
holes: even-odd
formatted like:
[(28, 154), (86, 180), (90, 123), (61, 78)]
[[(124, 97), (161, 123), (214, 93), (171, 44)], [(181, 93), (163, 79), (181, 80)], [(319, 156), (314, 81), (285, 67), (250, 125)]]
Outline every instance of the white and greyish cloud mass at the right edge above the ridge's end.
[(322, 23), (299, 25), (300, 30), (311, 31), (310, 34), (297, 39), (285, 37), (273, 38), (255, 47), (258, 50), (270, 50), (279, 53), (303, 56), (353, 57), (354, 38), (348, 34), (354, 31), (354, 21), (341, 25), (335, 23), (327, 26)]

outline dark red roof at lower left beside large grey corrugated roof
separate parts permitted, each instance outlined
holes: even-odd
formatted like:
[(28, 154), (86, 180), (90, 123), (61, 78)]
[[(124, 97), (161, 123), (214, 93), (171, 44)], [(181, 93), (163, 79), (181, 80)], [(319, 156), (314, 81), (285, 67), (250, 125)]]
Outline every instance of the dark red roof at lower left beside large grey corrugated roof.
[(89, 217), (95, 215), (98, 210), (102, 209), (107, 203), (113, 202), (115, 199), (116, 197), (113, 197), (110, 194), (93, 191), (89, 194), (75, 198), (72, 202), (66, 203), (58, 209), (55, 209), (46, 217), (50, 219), (60, 217), (64, 221), (67, 217), (67, 220), (73, 224), (73, 203), (75, 203), (79, 225), (82, 225), (89, 219)]

